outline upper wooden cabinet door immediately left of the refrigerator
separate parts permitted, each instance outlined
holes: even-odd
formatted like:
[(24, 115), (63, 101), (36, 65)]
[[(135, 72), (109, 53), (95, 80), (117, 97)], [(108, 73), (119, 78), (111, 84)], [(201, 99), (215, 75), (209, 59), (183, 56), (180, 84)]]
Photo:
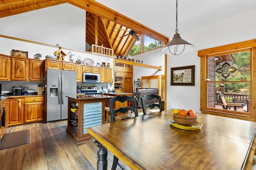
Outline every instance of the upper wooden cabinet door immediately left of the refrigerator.
[(43, 61), (29, 60), (29, 81), (43, 81)]

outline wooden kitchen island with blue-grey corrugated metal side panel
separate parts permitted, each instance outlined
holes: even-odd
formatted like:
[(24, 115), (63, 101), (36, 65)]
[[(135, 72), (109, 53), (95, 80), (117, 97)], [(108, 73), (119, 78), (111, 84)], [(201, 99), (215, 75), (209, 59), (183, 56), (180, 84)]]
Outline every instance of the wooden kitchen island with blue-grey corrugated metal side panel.
[(68, 126), (66, 130), (77, 144), (91, 139), (86, 128), (105, 123), (105, 103), (111, 98), (106, 95), (68, 97)]

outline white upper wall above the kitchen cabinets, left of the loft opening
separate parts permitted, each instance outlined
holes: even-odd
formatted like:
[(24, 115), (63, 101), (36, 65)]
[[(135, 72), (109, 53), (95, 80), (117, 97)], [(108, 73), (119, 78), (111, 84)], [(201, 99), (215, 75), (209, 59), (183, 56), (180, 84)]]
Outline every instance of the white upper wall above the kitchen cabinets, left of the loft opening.
[[(4, 36), (50, 45), (59, 43), (62, 47), (83, 51), (85, 30), (86, 11), (68, 3), (0, 18), (0, 34)], [(1, 46), (3, 44), (1, 41)], [(2, 49), (4, 47), (0, 47), (0, 53)], [(29, 51), (29, 47), (17, 50)]]

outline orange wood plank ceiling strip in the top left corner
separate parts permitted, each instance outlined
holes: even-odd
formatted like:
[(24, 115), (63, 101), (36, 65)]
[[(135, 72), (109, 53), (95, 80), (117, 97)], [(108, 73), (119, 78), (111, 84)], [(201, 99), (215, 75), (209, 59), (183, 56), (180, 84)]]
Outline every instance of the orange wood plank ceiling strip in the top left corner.
[[(27, 1), (25, 1), (25, 2), (27, 2)], [(32, 4), (29, 6), (24, 6), (24, 4), (23, 4), (24, 1), (18, 1), (18, 3), (15, 3), (14, 1), (10, 1), (10, 4), (6, 3), (6, 1), (3, 1), (3, 3), (5, 3), (5, 4), (4, 5), (0, 4), (0, 18), (4, 18), (7, 16), (16, 15), (16, 14), (21, 14), (21, 13), (29, 12), (29, 11), (33, 11), (33, 10), (38, 10), (41, 8), (46, 8), (46, 7), (50, 7), (50, 6), (54, 6), (54, 5), (64, 4), (66, 2), (64, 2), (62, 0), (52, 0), (52, 1), (46, 2), (46, 0), (44, 0), (43, 3)]]

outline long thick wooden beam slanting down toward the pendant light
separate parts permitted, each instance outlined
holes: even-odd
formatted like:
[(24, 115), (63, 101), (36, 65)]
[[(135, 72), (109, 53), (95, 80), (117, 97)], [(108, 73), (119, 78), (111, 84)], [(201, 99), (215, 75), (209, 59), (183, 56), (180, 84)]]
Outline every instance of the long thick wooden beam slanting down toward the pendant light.
[(125, 26), (126, 28), (130, 28), (130, 29), (136, 31), (138, 34), (144, 34), (150, 38), (153, 38), (154, 40), (163, 42), (164, 44), (169, 42), (168, 37), (156, 32), (156, 31), (154, 31), (154, 30), (94, 1), (94, 0), (65, 0), (65, 2), (68, 2), (69, 4), (77, 6), (78, 8), (82, 8), (86, 11), (96, 14), (97, 16), (101, 16), (103, 18), (106, 18), (107, 20), (110, 20), (112, 22), (115, 22), (117, 24)]

